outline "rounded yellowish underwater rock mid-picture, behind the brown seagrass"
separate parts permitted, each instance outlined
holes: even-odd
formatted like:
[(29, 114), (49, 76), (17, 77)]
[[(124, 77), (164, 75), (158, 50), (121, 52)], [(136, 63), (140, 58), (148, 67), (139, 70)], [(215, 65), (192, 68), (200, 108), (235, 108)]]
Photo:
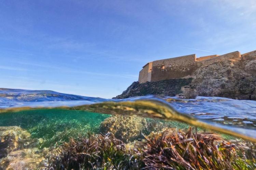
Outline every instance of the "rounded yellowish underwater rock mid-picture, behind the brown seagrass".
[(142, 131), (147, 121), (140, 117), (113, 115), (100, 124), (100, 132), (111, 132), (117, 139), (124, 142), (133, 141), (142, 137)]

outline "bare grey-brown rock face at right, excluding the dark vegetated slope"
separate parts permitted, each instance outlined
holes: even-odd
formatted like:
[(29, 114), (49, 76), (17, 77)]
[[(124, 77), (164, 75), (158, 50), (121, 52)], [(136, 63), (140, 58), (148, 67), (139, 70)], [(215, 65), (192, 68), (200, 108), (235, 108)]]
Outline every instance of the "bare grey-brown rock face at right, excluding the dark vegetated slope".
[(256, 56), (203, 66), (190, 85), (198, 96), (256, 100)]

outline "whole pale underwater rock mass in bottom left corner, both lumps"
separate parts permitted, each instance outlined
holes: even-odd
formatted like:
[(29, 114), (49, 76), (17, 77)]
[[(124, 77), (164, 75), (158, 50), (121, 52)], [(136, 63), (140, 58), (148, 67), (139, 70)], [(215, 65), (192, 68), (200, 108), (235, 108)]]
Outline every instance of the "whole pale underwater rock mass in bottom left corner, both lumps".
[(18, 126), (0, 126), (0, 170), (43, 169), (46, 155), (55, 150), (39, 150), (37, 142)]

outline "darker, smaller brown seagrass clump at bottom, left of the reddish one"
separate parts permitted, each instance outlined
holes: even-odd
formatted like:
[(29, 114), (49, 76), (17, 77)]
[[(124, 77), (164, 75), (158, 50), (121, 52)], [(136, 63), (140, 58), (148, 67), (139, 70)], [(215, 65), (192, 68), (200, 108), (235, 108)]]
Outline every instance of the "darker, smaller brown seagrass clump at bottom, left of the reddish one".
[(113, 134), (90, 135), (64, 143), (60, 152), (48, 158), (47, 169), (131, 169), (136, 159)]

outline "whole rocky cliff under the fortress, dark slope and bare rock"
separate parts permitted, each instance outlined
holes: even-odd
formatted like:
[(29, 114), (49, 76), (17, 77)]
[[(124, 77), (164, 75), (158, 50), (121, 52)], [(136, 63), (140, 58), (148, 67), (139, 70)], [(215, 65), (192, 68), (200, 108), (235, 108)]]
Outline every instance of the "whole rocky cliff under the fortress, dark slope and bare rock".
[(199, 67), (193, 79), (170, 79), (158, 82), (133, 82), (116, 98), (145, 95), (215, 96), (256, 100), (256, 51), (241, 58), (217, 61)]

